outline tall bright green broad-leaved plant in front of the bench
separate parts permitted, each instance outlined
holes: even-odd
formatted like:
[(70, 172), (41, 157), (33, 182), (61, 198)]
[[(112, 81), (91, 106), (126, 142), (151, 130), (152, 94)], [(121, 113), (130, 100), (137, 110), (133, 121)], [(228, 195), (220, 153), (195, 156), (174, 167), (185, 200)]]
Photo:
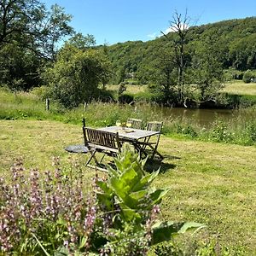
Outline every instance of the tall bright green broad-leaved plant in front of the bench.
[(109, 223), (105, 236), (108, 242), (103, 245), (105, 253), (120, 253), (121, 247), (122, 253), (143, 255), (154, 244), (203, 226), (197, 223), (156, 222), (159, 203), (169, 191), (151, 187), (159, 170), (146, 173), (143, 170), (146, 160), (140, 160), (134, 148), (126, 143), (114, 162), (117, 169), (109, 166), (108, 180), (97, 182), (101, 189), (97, 192), (97, 201)]

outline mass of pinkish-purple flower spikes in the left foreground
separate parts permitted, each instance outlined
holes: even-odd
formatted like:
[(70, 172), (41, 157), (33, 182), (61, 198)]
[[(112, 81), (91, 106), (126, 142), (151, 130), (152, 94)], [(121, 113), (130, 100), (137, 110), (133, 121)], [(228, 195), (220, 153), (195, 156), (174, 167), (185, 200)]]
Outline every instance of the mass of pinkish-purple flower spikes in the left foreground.
[[(89, 241), (96, 218), (95, 198), (84, 196), (81, 172), (37, 169), (25, 176), (22, 161), (12, 167), (10, 183), (0, 180), (0, 247), (3, 253), (47, 254), (66, 247), (72, 253)], [(79, 171), (79, 170), (77, 170)]]

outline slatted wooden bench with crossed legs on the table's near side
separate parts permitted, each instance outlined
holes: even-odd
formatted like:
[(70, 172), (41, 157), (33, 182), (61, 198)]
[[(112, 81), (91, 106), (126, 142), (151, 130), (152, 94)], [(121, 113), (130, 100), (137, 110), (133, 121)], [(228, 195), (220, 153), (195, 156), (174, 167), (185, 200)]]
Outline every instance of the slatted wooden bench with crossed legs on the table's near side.
[[(85, 166), (95, 168), (97, 170), (106, 172), (106, 168), (102, 168), (102, 160), (106, 154), (109, 156), (116, 156), (120, 151), (119, 134), (108, 131), (99, 131), (83, 126), (84, 145), (89, 149), (90, 158)], [(101, 153), (102, 159), (97, 160), (96, 154)], [(90, 165), (90, 161), (94, 160), (96, 166)]]

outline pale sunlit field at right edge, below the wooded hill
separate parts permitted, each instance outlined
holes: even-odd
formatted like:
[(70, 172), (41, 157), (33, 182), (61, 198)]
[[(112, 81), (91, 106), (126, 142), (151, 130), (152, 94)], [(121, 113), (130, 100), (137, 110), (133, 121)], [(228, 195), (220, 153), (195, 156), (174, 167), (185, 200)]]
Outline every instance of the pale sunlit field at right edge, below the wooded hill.
[(235, 80), (227, 83), (223, 91), (237, 95), (256, 95), (256, 83), (245, 84)]

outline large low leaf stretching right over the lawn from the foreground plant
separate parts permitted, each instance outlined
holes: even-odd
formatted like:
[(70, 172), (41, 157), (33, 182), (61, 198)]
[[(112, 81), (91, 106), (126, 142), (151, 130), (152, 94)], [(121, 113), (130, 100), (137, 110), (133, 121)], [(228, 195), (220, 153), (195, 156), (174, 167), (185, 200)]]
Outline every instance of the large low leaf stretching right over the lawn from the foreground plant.
[(188, 222), (174, 223), (173, 221), (158, 222), (152, 226), (152, 245), (162, 241), (169, 241), (178, 234), (189, 230), (199, 230), (206, 227), (204, 224)]

